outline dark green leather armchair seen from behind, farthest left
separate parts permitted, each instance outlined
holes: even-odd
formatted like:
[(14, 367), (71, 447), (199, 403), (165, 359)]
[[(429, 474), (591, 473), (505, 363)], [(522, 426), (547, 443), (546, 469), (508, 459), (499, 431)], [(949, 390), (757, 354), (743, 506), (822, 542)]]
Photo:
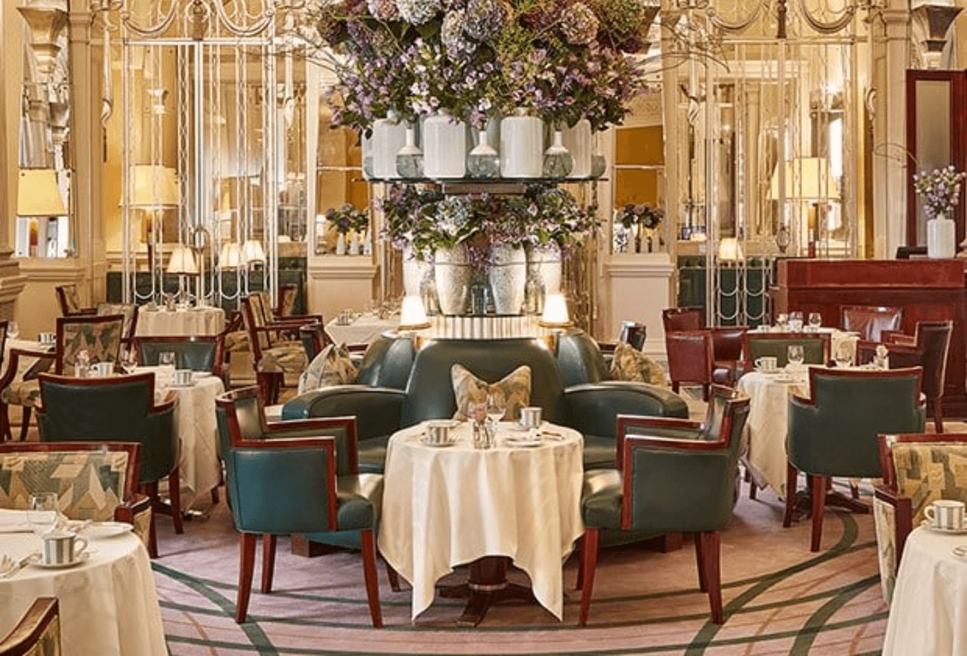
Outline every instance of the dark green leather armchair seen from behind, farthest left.
[[(138, 442), (138, 484), (152, 501), (148, 553), (158, 556), (155, 515), (169, 513), (182, 533), (181, 441), (174, 430), (176, 397), (155, 402), (154, 374), (110, 378), (70, 378), (41, 374), (37, 423), (41, 442)], [(171, 504), (161, 503), (158, 483), (168, 479)]]

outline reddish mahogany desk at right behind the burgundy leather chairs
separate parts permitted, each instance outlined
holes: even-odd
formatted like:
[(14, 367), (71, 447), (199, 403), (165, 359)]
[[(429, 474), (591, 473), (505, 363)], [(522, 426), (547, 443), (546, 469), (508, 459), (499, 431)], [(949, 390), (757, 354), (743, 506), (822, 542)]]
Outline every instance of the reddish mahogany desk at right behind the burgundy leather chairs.
[(776, 311), (819, 312), (824, 326), (839, 326), (843, 305), (890, 305), (903, 309), (901, 328), (911, 335), (919, 321), (951, 319), (944, 414), (967, 416), (964, 266), (964, 260), (781, 260)]

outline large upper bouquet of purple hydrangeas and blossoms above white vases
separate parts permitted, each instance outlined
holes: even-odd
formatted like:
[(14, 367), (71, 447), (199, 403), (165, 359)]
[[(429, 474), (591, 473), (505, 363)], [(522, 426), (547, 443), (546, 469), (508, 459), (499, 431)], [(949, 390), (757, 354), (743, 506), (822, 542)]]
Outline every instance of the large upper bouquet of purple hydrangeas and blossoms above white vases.
[(394, 109), (480, 127), (526, 108), (602, 129), (644, 89), (630, 55), (647, 44), (655, 7), (645, 1), (342, 0), (309, 15), (334, 53), (336, 126), (366, 131)]

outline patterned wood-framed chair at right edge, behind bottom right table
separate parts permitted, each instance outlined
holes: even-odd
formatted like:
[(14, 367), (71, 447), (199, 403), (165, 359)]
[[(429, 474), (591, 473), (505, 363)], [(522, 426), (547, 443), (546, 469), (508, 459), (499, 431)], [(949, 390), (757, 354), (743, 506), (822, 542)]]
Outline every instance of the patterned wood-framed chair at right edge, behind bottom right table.
[(937, 499), (967, 502), (967, 434), (881, 435), (883, 483), (873, 495), (880, 585), (889, 604), (907, 535)]

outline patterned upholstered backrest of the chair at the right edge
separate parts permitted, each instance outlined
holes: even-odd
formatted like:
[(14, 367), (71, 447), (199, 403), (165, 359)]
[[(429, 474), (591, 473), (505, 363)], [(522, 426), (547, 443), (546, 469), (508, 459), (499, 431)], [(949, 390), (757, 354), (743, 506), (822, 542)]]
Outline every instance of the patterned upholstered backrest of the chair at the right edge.
[(892, 450), (896, 489), (913, 504), (913, 526), (920, 526), (923, 510), (937, 499), (967, 502), (967, 444), (897, 442)]

